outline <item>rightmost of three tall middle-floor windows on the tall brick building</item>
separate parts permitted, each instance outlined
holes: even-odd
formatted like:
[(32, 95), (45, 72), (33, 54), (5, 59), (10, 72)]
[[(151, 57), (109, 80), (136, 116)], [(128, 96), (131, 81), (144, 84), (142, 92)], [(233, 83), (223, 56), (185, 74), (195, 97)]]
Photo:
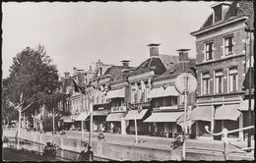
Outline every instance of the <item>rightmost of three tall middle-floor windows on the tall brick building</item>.
[(228, 85), (229, 85), (229, 92), (237, 91), (237, 86), (238, 86), (237, 68), (230, 68), (228, 70)]

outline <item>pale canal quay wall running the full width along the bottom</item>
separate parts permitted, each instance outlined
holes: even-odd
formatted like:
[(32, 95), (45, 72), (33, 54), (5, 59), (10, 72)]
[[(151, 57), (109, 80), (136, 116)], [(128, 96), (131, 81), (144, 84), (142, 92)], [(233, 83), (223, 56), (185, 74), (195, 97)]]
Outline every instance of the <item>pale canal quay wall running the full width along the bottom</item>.
[[(15, 136), (15, 131), (4, 131), (4, 136)], [(53, 141), (60, 148), (65, 150), (71, 150), (81, 152), (83, 150), (83, 144), (81, 139), (77, 137), (67, 137), (65, 135), (45, 135), (38, 133), (31, 133), (22, 131), (22, 138), (28, 139), (37, 143), (45, 144), (47, 141)], [(88, 141), (86, 141), (88, 142)], [(139, 146), (140, 145), (140, 146)], [(118, 144), (108, 141), (93, 140), (93, 151), (98, 157), (109, 158), (112, 160), (131, 160), (131, 161), (151, 161), (151, 160), (181, 160), (181, 148), (156, 148), (149, 146), (142, 146), (142, 144)], [(65, 151), (63, 151), (65, 152)], [(65, 153), (61, 153), (65, 155)], [(70, 159), (77, 160), (76, 155), (70, 155)], [(230, 160), (254, 160), (253, 155), (248, 156), (246, 154), (229, 154)], [(224, 160), (224, 154), (215, 151), (198, 151), (187, 150), (187, 160)]]

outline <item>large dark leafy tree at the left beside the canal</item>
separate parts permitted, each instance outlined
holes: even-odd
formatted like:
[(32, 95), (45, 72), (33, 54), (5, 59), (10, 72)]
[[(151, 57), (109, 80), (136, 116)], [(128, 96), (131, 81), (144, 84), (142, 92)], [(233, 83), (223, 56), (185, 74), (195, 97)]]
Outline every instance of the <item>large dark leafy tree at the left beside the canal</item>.
[(43, 46), (34, 49), (27, 47), (13, 58), (10, 68), (10, 84), (8, 84), (8, 98), (13, 103), (19, 103), (23, 93), (25, 105), (32, 103), (26, 110), (30, 115), (45, 104), (52, 92), (59, 87), (58, 71), (52, 59), (46, 55)]

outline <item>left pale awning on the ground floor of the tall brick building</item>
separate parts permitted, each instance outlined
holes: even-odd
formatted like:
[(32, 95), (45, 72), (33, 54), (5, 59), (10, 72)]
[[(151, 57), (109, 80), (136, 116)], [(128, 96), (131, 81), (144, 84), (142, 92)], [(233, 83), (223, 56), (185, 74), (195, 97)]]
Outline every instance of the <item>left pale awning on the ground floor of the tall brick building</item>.
[(213, 106), (199, 106), (191, 111), (190, 119), (192, 121), (209, 121), (212, 119)]

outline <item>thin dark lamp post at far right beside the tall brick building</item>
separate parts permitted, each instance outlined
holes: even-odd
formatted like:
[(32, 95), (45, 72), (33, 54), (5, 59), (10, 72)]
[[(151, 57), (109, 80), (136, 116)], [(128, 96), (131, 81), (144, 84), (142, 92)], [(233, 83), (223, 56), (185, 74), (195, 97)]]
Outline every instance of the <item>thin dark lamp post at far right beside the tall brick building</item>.
[[(245, 32), (249, 33), (249, 96), (248, 96), (248, 125), (251, 125), (252, 124), (252, 121), (251, 121), (251, 116), (252, 116), (252, 110), (251, 110), (251, 76), (252, 76), (252, 73), (251, 73), (251, 57), (252, 57), (252, 39), (251, 39), (251, 33), (254, 31), (254, 29), (246, 26), (245, 27)], [(246, 54), (245, 54), (246, 55)], [(246, 63), (245, 63), (246, 65)], [(248, 132), (248, 141), (247, 141), (247, 147), (250, 147), (251, 146), (251, 133), (250, 131)]]

